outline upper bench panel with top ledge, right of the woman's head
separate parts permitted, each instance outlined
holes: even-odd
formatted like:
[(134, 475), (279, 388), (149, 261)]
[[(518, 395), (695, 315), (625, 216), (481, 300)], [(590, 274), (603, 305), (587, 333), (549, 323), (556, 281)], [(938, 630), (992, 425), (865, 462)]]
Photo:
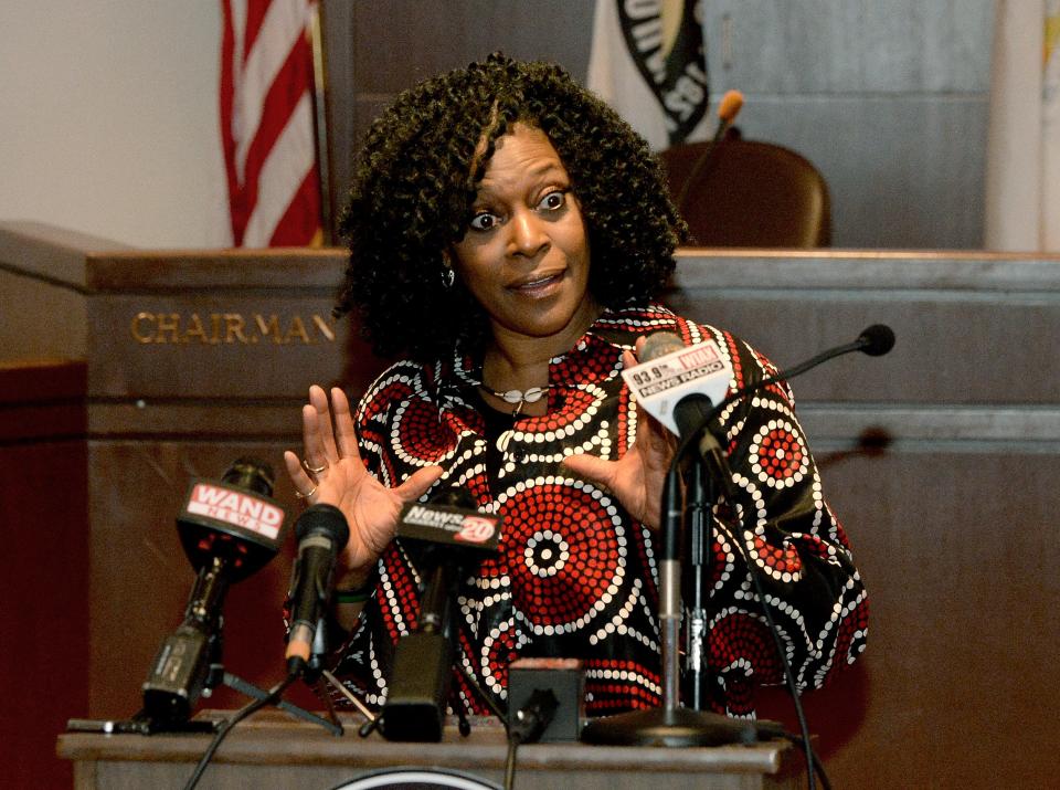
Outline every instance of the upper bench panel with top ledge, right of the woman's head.
[(923, 254), (679, 253), (667, 296), (787, 367), (855, 339), (897, 334), (887, 357), (837, 359), (795, 385), (798, 401), (952, 407), (1056, 404), (1060, 262)]

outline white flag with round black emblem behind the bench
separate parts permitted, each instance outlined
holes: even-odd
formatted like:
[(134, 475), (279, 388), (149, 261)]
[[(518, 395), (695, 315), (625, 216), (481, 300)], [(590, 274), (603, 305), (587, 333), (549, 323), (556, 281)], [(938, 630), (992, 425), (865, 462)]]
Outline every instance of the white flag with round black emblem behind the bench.
[(589, 87), (654, 149), (706, 138), (701, 2), (596, 0)]

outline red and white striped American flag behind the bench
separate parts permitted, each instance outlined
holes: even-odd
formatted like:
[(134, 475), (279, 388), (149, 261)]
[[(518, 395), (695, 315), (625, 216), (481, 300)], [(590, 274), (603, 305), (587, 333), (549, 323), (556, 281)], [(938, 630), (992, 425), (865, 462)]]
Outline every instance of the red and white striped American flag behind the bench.
[(221, 0), (221, 139), (235, 246), (319, 244), (315, 0)]

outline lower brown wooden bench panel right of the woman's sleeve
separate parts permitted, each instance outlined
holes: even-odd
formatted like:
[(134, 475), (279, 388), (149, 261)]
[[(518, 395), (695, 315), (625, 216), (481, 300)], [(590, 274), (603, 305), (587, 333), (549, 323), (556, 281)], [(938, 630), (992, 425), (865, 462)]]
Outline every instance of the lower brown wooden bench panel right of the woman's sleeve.
[(1060, 454), (819, 446), (871, 611), (859, 664), (804, 698), (835, 787), (1045, 787), (1052, 737), (1031, 723), (1060, 706)]

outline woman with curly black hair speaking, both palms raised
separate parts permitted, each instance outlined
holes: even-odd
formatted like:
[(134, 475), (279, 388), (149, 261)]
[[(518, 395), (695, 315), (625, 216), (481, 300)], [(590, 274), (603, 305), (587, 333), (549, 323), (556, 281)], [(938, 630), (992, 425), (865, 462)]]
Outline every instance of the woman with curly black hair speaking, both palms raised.
[[(583, 661), (590, 715), (657, 706), (654, 544), (675, 442), (622, 370), (661, 330), (714, 340), (730, 390), (775, 369), (653, 302), (686, 229), (647, 145), (559, 67), (491, 55), (403, 93), (374, 123), (341, 228), (351, 256), (337, 309), (399, 361), (356, 409), (312, 387), (304, 453), (285, 454), (300, 495), (350, 526), (335, 673), (384, 701), (418, 612), (399, 512), (459, 488), (504, 527), (498, 555), (459, 583), (451, 704), (488, 713), (511, 661), (560, 656)], [(714, 707), (746, 714), (754, 685), (783, 677), (745, 557), (803, 687), (863, 650), (868, 603), (788, 387), (735, 401), (720, 422), (734, 494), (713, 510), (709, 667)]]

